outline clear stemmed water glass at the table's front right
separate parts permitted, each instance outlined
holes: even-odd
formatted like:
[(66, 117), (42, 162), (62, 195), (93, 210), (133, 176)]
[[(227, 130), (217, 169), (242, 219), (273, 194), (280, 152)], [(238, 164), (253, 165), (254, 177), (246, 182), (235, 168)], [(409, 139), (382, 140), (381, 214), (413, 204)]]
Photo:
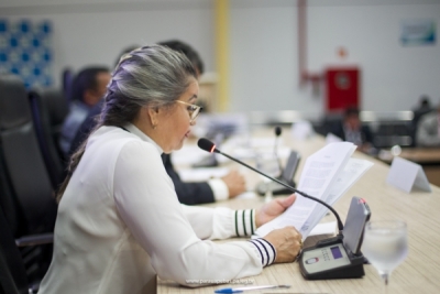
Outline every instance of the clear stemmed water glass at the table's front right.
[(365, 226), (362, 253), (385, 282), (408, 254), (407, 226), (402, 220), (369, 221)]

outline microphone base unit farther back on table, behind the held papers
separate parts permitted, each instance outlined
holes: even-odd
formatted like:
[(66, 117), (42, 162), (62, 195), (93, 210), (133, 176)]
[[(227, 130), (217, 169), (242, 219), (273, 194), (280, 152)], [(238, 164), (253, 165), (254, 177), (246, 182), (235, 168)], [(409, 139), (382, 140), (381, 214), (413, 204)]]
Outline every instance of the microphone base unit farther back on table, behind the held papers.
[[(298, 168), (298, 164), (300, 161), (300, 155), (296, 151), (290, 151), (290, 155), (287, 160), (286, 167), (283, 170), (283, 173), (276, 177), (276, 179), (287, 184), (288, 186), (295, 187), (295, 173)], [(290, 194), (292, 190), (276, 182), (260, 182), (256, 187), (255, 192), (260, 195), (266, 194), (266, 192), (271, 189), (272, 195), (282, 195), (282, 194)]]

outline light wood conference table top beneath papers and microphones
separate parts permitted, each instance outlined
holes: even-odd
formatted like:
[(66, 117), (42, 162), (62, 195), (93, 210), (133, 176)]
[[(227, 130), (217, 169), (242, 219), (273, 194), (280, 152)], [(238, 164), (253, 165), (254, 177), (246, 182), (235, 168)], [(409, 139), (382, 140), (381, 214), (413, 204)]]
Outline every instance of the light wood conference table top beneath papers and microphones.
[[(273, 135), (258, 131), (257, 135)], [(318, 135), (306, 140), (294, 140), (288, 131), (282, 134), (283, 142), (292, 150), (298, 151), (302, 161), (295, 176), (298, 183), (307, 156), (324, 145), (324, 139)], [(342, 221), (353, 196), (366, 200), (372, 211), (371, 220), (402, 219), (408, 229), (408, 255), (396, 268), (389, 279), (387, 293), (440, 293), (440, 188), (431, 185), (432, 192), (413, 190), (405, 193), (386, 183), (389, 165), (370, 157), (361, 152), (354, 152), (352, 157), (369, 160), (374, 165), (333, 205)], [(237, 167), (237, 163), (227, 163)], [(242, 168), (240, 168), (243, 172)], [(245, 172), (248, 187), (252, 189), (261, 181), (254, 172)], [(300, 196), (298, 196), (300, 197)], [(233, 209), (257, 208), (264, 204), (264, 197), (235, 198), (227, 202), (204, 205), (206, 207), (226, 206)], [(333, 221), (332, 215), (327, 215), (321, 222)], [(305, 248), (314, 246), (318, 240), (331, 236), (314, 236), (305, 241)], [(230, 239), (239, 240), (239, 238)], [(228, 240), (226, 240), (228, 241)], [(218, 241), (224, 242), (224, 240)], [(222, 271), (222, 269), (219, 269)], [(213, 293), (220, 287), (239, 287), (243, 285), (278, 285), (287, 284), (290, 288), (261, 290), (250, 293), (385, 293), (384, 282), (371, 264), (364, 265), (365, 275), (361, 279), (338, 280), (305, 280), (298, 262), (272, 264), (264, 268), (256, 276), (243, 277), (230, 284), (204, 285), (201, 287), (185, 287), (173, 281), (157, 280), (157, 293)]]

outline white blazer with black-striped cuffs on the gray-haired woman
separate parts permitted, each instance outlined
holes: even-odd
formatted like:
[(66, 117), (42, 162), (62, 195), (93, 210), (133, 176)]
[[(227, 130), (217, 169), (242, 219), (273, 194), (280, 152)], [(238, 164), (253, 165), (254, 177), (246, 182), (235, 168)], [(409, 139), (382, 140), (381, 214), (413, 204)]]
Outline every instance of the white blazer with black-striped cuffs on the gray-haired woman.
[(38, 294), (152, 293), (156, 274), (187, 286), (258, 274), (270, 262), (253, 243), (201, 240), (243, 236), (254, 226), (250, 210), (235, 221), (228, 208), (180, 205), (161, 148), (125, 128), (101, 127), (89, 138), (59, 203)]

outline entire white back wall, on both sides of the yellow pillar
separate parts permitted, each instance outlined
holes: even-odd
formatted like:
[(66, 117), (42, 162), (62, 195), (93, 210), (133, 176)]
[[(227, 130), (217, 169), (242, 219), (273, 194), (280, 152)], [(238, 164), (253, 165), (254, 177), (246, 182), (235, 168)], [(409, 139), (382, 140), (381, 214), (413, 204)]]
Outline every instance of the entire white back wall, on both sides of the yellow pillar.
[[(122, 48), (177, 37), (194, 45), (215, 70), (210, 0), (0, 0), (0, 18), (50, 19), (54, 75), (66, 66), (113, 65)], [(230, 0), (231, 110), (321, 113), (323, 89), (299, 87), (297, 2)], [(400, 21), (432, 19), (437, 43), (404, 47)], [(422, 94), (440, 101), (440, 0), (309, 0), (307, 64), (356, 64), (364, 110), (407, 110)], [(348, 50), (341, 59), (337, 48)]]

